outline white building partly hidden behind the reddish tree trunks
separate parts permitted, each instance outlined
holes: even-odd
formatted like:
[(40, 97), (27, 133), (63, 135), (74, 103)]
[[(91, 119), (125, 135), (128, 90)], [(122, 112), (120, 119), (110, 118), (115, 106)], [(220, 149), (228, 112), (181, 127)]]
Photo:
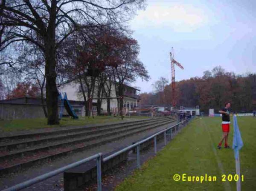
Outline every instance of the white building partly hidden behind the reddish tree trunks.
[[(61, 85), (58, 88), (58, 90), (61, 93), (66, 92), (68, 100), (84, 101), (80, 83), (77, 83), (75, 81), (70, 81)], [(87, 88), (84, 87), (84, 90), (87, 91)], [(140, 108), (140, 96), (137, 94), (138, 91), (140, 91), (138, 88), (124, 85), (123, 107), (126, 109), (126, 111), (134, 109), (135, 107)], [(97, 98), (96, 93), (97, 93), (97, 86), (95, 86), (94, 88), (93, 98)], [(111, 86), (110, 97), (117, 97), (114, 84)], [(95, 112), (96, 112), (96, 103), (97, 103), (97, 100), (93, 99), (93, 111)], [(107, 99), (102, 99), (101, 108), (103, 112), (107, 112)], [(111, 108), (111, 111), (117, 110), (118, 108), (117, 99), (110, 100), (110, 108)], [(82, 112), (82, 114), (84, 115), (85, 112)]]

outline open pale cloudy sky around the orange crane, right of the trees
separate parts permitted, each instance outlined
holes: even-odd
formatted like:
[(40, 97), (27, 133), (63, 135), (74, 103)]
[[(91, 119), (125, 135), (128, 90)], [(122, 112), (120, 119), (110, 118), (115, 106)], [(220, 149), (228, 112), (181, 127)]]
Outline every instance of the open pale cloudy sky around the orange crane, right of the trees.
[(132, 85), (143, 93), (152, 91), (160, 77), (171, 82), (172, 47), (184, 67), (175, 68), (175, 81), (202, 77), (215, 66), (256, 73), (255, 10), (256, 0), (147, 0), (130, 28), (151, 78)]

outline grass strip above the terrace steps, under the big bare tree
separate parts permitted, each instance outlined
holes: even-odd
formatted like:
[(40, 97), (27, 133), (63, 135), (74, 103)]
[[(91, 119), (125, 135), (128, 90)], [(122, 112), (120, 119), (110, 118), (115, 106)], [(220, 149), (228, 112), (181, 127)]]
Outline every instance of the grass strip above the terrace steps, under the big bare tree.
[[(124, 117), (124, 120), (128, 119), (147, 119), (146, 116), (131, 116)], [(121, 117), (113, 116), (94, 116), (92, 117), (79, 117), (78, 120), (71, 118), (62, 118), (60, 125), (47, 125), (47, 119), (36, 118), (36, 119), (22, 119), (22, 120), (0, 120), (0, 131), (18, 131), (18, 130), (29, 130), (38, 128), (52, 128), (52, 127), (64, 127), (64, 126), (76, 126), (76, 125), (89, 125), (98, 123), (110, 123), (110, 122), (121, 122)]]

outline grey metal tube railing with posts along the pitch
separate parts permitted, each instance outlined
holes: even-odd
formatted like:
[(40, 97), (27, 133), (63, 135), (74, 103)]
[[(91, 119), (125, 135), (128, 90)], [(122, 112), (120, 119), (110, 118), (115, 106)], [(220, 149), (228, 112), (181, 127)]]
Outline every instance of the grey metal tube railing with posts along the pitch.
[(56, 169), (54, 171), (50, 171), (50, 172), (48, 172), (46, 174), (40, 175), (40, 176), (35, 177), (33, 179), (27, 180), (25, 182), (21, 182), (21, 183), (19, 183), (17, 185), (14, 185), (14, 186), (12, 186), (10, 188), (6, 188), (6, 189), (4, 189), (2, 191), (18, 191), (18, 190), (21, 190), (23, 188), (27, 188), (27, 187), (29, 187), (29, 186), (37, 183), (37, 182), (41, 182), (41, 181), (46, 180), (46, 179), (48, 179), (50, 177), (54, 177), (57, 174), (60, 174), (60, 173), (62, 173), (64, 171), (67, 171), (67, 170), (69, 170), (71, 168), (74, 168), (76, 166), (82, 165), (82, 164), (84, 164), (86, 162), (89, 162), (89, 161), (95, 160), (95, 159), (96, 159), (96, 166), (97, 166), (97, 188), (98, 188), (98, 191), (102, 191), (102, 180), (101, 180), (101, 178), (102, 178), (102, 171), (101, 171), (102, 162), (106, 162), (106, 161), (112, 159), (113, 157), (116, 157), (117, 155), (119, 155), (119, 154), (121, 154), (121, 153), (123, 153), (125, 151), (132, 150), (133, 148), (136, 147), (136, 150), (137, 150), (137, 168), (140, 168), (140, 145), (142, 143), (145, 143), (146, 141), (154, 138), (154, 154), (157, 154), (157, 135), (160, 135), (162, 133), (164, 134), (164, 145), (166, 145), (167, 144), (167, 141), (166, 141), (167, 133), (166, 132), (170, 131), (169, 135), (170, 135), (170, 137), (172, 139), (172, 129), (174, 128), (175, 129), (175, 133), (176, 133), (177, 131), (180, 130), (180, 124), (188, 122), (189, 120), (190, 119), (187, 119), (187, 120), (184, 120), (184, 121), (182, 121), (180, 123), (172, 125), (171, 127), (166, 128), (166, 129), (164, 129), (162, 131), (159, 131), (159, 132), (151, 135), (150, 137), (147, 137), (147, 138), (141, 140), (140, 142), (137, 142), (137, 143), (135, 143), (133, 145), (125, 147), (122, 150), (117, 151), (117, 152), (109, 155), (108, 157), (105, 157), (104, 159), (102, 159), (102, 153), (97, 153), (97, 154), (94, 154), (93, 156), (87, 157), (87, 158), (85, 158), (83, 160), (79, 160), (78, 162), (74, 162), (74, 163), (72, 163), (70, 165), (66, 165), (66, 166), (64, 166), (62, 168), (58, 168), (58, 169)]

